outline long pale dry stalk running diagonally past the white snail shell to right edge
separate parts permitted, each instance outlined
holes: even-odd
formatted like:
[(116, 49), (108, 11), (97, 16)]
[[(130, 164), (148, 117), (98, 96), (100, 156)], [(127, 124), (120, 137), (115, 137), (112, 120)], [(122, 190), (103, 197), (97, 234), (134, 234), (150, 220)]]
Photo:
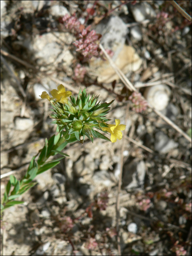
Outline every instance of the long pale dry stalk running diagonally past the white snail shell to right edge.
[[(101, 48), (101, 50), (103, 51), (103, 53), (105, 54), (106, 58), (109, 60), (110, 65), (112, 66), (112, 68), (114, 69), (114, 71), (117, 73), (117, 75), (119, 76), (119, 78), (121, 79), (121, 81), (125, 84), (125, 86), (131, 90), (131, 91), (137, 91), (135, 89), (135, 87), (133, 86), (133, 84), (127, 79), (127, 77), (123, 74), (123, 72), (116, 66), (116, 64), (113, 62), (113, 60), (110, 58), (110, 56), (108, 55), (108, 53), (105, 51), (105, 49), (103, 48), (103, 46), (101, 44), (99, 44), (99, 47)], [(144, 98), (143, 98), (144, 99)], [(167, 118), (166, 116), (164, 116), (161, 112), (159, 112), (158, 110), (154, 109), (152, 106), (150, 106), (150, 104), (148, 103), (148, 106), (156, 113), (158, 114), (158, 116), (160, 116), (164, 121), (166, 121), (167, 124), (171, 125), (174, 129), (176, 129), (177, 132), (179, 132), (182, 136), (184, 136), (189, 142), (192, 143), (192, 139), (187, 135), (187, 133), (185, 133), (184, 131), (182, 131), (176, 124), (174, 124), (169, 118)]]

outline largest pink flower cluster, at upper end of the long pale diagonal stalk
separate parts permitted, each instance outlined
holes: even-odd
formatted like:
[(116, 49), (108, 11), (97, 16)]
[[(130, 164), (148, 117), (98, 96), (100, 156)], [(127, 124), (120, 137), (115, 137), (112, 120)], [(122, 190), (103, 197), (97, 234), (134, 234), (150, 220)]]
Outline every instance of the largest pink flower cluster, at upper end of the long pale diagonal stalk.
[(80, 52), (87, 59), (99, 55), (99, 44), (97, 42), (99, 35), (96, 34), (95, 30), (89, 31), (89, 29), (90, 26), (83, 29), (82, 33), (79, 34), (80, 39), (73, 43), (77, 47), (76, 52)]

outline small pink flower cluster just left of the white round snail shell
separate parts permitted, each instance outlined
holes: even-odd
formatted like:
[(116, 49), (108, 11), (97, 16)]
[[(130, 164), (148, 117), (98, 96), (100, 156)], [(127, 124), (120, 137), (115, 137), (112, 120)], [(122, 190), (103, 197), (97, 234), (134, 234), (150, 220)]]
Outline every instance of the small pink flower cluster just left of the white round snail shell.
[(129, 97), (129, 99), (133, 103), (132, 110), (135, 110), (137, 113), (142, 112), (143, 110), (147, 109), (147, 101), (142, 97), (140, 93), (137, 93), (134, 91), (132, 95)]

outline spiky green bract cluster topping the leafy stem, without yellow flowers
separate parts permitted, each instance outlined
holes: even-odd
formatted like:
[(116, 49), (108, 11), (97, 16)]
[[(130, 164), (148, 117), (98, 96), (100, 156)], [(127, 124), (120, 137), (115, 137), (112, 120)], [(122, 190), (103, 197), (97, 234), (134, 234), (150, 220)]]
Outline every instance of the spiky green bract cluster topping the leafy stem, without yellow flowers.
[[(54, 112), (50, 117), (56, 119), (52, 124), (57, 124), (59, 132), (63, 131), (65, 139), (69, 139), (72, 133), (75, 134), (76, 139), (83, 143), (85, 136), (93, 142), (93, 138), (101, 138), (110, 141), (107, 137), (102, 135), (100, 132), (95, 131), (93, 128), (102, 130), (102, 127), (108, 127), (105, 122), (110, 121), (106, 118), (105, 114), (108, 113), (109, 103), (97, 103), (99, 96), (90, 98), (90, 94), (87, 96), (86, 89), (81, 91), (77, 99), (74, 96), (70, 96), (68, 104), (55, 103), (52, 104)], [(107, 133), (106, 131), (104, 131)]]

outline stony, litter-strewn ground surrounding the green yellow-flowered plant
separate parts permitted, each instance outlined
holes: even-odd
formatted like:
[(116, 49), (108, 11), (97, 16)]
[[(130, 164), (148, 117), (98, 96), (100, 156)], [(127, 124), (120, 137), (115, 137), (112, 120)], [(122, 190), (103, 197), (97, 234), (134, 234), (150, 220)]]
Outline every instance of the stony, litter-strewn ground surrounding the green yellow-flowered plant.
[[(177, 3), (191, 15), (191, 1)], [(25, 203), (1, 216), (1, 255), (119, 255), (122, 158), (121, 254), (191, 255), (191, 143), (151, 108), (136, 111), (104, 55), (76, 51), (89, 25), (151, 106), (191, 137), (191, 23), (169, 1), (1, 1), (1, 199), (6, 174), (22, 178), (56, 133), (42, 91), (63, 83), (76, 97), (86, 87), (115, 99), (110, 123), (126, 124), (122, 140), (72, 143), (35, 178)]]

